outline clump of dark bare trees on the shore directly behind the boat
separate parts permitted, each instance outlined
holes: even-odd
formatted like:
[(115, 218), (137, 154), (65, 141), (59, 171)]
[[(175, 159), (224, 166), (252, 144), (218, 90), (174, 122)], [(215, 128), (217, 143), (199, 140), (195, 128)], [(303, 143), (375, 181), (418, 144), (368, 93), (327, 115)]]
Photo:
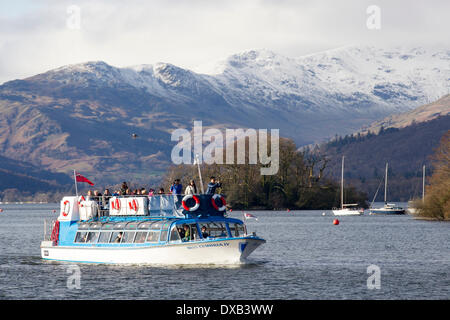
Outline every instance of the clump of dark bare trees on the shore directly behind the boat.
[[(336, 181), (325, 178), (329, 162), (326, 157), (313, 152), (300, 152), (292, 140), (280, 139), (278, 173), (261, 175), (263, 165), (248, 164), (248, 152), (246, 156), (246, 164), (201, 165), (203, 180), (207, 183), (210, 176), (219, 179), (222, 189), (218, 191), (227, 196), (227, 203), (232, 208), (331, 209), (339, 206), (340, 186)], [(163, 184), (169, 185), (176, 178), (181, 179), (184, 186), (189, 180), (195, 180), (198, 192), (201, 191), (197, 166), (172, 166)], [(345, 191), (347, 202), (367, 207), (366, 194), (351, 187), (346, 187)]]

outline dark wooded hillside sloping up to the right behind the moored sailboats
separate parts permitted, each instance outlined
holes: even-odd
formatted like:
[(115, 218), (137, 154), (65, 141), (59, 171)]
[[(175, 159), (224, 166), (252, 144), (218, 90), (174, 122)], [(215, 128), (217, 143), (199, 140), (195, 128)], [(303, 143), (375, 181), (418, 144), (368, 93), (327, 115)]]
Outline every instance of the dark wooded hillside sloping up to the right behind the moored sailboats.
[[(449, 111), (450, 99), (445, 96), (435, 103), (378, 121), (369, 126), (370, 133), (337, 137), (322, 144), (320, 152), (330, 159), (328, 172), (338, 179), (341, 157), (345, 155), (346, 183), (367, 192), (371, 198), (388, 162), (389, 200), (407, 201), (419, 196), (422, 166), (427, 166), (430, 175), (430, 156), (450, 130)], [(381, 193), (378, 201), (382, 201)]]

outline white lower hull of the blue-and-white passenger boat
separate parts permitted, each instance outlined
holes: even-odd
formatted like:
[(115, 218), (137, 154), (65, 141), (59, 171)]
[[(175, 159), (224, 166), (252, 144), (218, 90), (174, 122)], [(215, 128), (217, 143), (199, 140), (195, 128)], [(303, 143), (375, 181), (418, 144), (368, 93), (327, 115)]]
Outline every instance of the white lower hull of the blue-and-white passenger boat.
[(46, 260), (111, 264), (237, 264), (265, 243), (256, 238), (195, 241), (145, 247), (78, 247), (41, 244)]

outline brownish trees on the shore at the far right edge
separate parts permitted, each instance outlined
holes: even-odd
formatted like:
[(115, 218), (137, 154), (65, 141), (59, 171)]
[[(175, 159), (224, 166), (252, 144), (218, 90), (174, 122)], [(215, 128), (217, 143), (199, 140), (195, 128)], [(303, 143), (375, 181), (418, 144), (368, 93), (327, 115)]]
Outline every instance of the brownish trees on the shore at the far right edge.
[(421, 217), (450, 220), (450, 130), (433, 155), (433, 175), (425, 188), (425, 200), (415, 201)]

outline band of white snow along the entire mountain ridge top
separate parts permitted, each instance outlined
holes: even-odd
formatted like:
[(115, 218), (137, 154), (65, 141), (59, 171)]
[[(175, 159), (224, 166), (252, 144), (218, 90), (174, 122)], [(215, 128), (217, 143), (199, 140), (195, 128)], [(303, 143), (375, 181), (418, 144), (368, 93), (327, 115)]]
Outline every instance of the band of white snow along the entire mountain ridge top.
[(450, 51), (346, 46), (289, 58), (248, 50), (201, 74), (170, 63), (116, 68), (102, 61), (46, 73), (65, 84), (132, 86), (172, 101), (218, 95), (230, 105), (300, 112), (406, 111), (450, 91)]

